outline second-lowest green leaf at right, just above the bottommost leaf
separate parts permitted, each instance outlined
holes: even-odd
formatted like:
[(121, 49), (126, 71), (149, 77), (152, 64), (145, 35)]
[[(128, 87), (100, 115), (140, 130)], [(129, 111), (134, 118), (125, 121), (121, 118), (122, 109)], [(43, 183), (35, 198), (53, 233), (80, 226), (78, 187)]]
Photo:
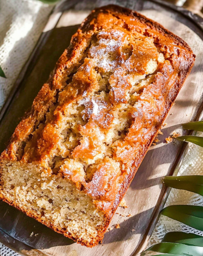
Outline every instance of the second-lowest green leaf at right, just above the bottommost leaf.
[(169, 232), (164, 235), (162, 242), (203, 247), (203, 236), (184, 232)]

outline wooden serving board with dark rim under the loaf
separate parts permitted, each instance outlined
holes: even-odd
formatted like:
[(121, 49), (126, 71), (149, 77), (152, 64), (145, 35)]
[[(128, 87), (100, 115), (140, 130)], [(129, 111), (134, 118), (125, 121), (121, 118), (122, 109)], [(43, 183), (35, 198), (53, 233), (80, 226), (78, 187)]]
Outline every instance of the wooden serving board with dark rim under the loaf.
[[(163, 135), (159, 135), (160, 142), (151, 146), (127, 190), (125, 199), (129, 207), (119, 207), (119, 214), (115, 214), (112, 219), (110, 227), (119, 223), (120, 228), (107, 232), (102, 244), (85, 248), (80, 244), (72, 244), (72, 240), (0, 202), (0, 241), (23, 255), (139, 255), (147, 244), (167, 198), (167, 190), (162, 184), (163, 176), (177, 171), (186, 151), (183, 142), (166, 144), (165, 138), (173, 131), (182, 133), (179, 124), (199, 120), (202, 112), (203, 19), (158, 0), (63, 1), (50, 16), (44, 33), (0, 113), (0, 151), (4, 150), (20, 117), (31, 106), (60, 54), (69, 45), (78, 24), (93, 8), (110, 3), (137, 10), (182, 37), (196, 54), (195, 66), (167, 116), (167, 126), (162, 130)], [(131, 216), (127, 217), (129, 214)]]

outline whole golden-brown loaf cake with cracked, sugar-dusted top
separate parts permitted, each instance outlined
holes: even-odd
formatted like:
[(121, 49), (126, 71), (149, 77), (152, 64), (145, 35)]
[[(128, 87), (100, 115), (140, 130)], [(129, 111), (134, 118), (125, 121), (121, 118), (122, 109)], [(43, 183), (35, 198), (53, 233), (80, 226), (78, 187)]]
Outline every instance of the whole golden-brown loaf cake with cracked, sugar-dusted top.
[(98, 244), (194, 61), (137, 12), (93, 11), (1, 154), (0, 198)]

